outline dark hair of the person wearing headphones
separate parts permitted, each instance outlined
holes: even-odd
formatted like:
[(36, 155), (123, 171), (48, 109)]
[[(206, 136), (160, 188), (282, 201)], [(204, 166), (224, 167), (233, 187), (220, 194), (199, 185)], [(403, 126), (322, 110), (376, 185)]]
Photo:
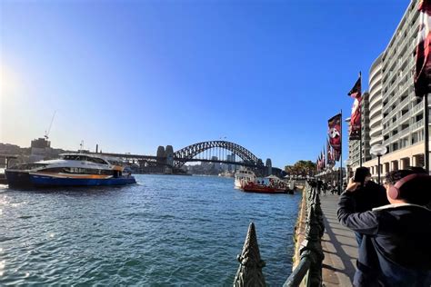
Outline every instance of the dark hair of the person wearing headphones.
[[(398, 170), (386, 173), (386, 183), (395, 185), (396, 182), (410, 174), (428, 174), (422, 167), (407, 167), (405, 170)], [(426, 205), (431, 200), (430, 179), (427, 177), (420, 180), (411, 180), (404, 183), (399, 189), (399, 199), (407, 203)]]

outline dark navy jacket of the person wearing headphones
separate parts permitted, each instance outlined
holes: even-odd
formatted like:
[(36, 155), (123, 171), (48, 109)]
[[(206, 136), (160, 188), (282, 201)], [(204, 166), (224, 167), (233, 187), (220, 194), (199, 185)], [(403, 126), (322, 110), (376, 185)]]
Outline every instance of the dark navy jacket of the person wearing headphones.
[(338, 220), (365, 234), (359, 246), (355, 286), (430, 286), (431, 211), (415, 204), (389, 204), (355, 213), (353, 193), (343, 193)]

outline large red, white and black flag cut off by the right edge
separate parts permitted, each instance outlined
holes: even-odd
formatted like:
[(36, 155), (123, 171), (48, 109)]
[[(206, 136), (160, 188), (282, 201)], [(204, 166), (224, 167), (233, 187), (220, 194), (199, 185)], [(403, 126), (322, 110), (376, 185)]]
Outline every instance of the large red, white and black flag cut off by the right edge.
[(430, 92), (428, 84), (431, 84), (431, 59), (429, 57), (431, 1), (422, 0), (418, 9), (420, 11), (420, 24), (416, 46), (415, 94), (418, 97), (424, 97)]

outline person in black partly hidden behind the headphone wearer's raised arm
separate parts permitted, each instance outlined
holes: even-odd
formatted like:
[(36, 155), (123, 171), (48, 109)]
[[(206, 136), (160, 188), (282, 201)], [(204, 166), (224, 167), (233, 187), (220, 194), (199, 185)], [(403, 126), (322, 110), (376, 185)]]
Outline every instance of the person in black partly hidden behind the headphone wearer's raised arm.
[[(386, 190), (380, 184), (371, 181), (371, 173), (366, 167), (358, 167), (355, 172), (355, 178), (358, 181), (356, 186), (355, 197), (355, 212), (364, 213), (372, 210), (375, 207), (389, 204), (386, 198)], [(347, 188), (347, 187), (346, 187)], [(357, 245), (361, 245), (362, 234), (356, 232)]]

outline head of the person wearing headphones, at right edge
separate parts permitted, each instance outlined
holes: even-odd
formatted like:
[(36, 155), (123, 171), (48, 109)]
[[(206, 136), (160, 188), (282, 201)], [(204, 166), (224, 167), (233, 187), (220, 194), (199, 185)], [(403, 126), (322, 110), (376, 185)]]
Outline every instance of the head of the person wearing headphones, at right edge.
[(420, 167), (387, 173), (385, 187), (389, 203), (426, 205), (431, 200), (431, 176)]

